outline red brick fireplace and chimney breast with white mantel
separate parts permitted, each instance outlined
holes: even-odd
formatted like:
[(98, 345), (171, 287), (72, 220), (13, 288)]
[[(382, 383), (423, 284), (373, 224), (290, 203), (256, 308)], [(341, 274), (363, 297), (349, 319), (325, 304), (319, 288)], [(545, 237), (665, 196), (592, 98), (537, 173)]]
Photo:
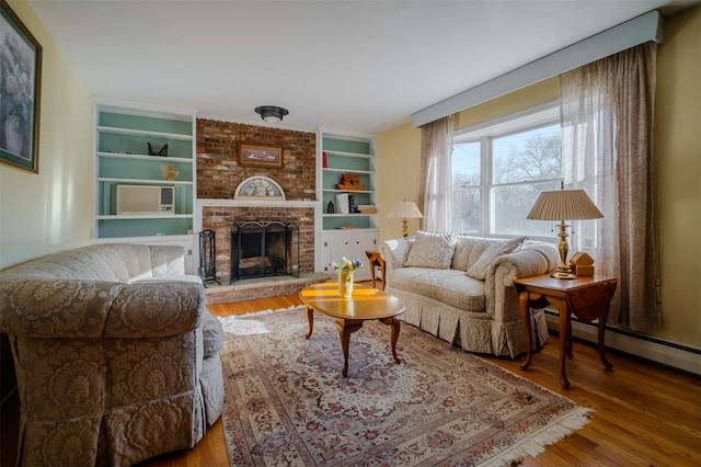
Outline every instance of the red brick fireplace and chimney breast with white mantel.
[[(260, 167), (240, 162), (239, 152), (242, 145), (279, 148), (283, 155), (281, 164)], [(202, 225), (202, 229), (215, 231), (215, 263), (217, 280), (221, 284), (228, 285), (230, 281), (230, 239), (231, 226), (234, 223), (295, 221), (299, 226), (299, 274), (314, 272), (314, 215), (315, 209), (319, 209), (319, 202), (315, 200), (315, 145), (314, 133), (197, 118), (195, 210), (202, 217), (196, 224)], [(285, 197), (232, 200), (237, 186), (251, 176), (272, 179), (279, 184)], [(234, 288), (244, 288), (239, 284), (241, 281), (234, 284)], [(299, 285), (277, 285), (267, 295), (245, 292), (238, 293), (235, 297), (216, 299), (208, 295), (207, 301), (235, 301), (280, 293), (291, 294), (298, 289)]]

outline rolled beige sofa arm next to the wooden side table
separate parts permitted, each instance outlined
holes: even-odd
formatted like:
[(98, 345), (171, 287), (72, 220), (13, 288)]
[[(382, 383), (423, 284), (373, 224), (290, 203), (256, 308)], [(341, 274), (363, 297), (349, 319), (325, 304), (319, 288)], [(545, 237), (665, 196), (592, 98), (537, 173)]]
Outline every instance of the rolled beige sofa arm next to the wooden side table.
[(519, 320), (514, 280), (545, 274), (555, 269), (559, 262), (558, 249), (545, 242), (530, 242), (517, 252), (497, 258), (484, 284), (486, 311), (497, 321)]

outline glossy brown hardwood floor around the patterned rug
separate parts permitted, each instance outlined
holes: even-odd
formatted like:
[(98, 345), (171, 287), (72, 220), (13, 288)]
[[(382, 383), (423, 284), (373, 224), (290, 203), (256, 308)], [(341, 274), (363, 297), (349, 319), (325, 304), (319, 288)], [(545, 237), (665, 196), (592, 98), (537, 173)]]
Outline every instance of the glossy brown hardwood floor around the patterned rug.
[[(209, 309), (216, 316), (230, 316), (296, 305), (301, 305), (299, 297), (288, 295), (212, 305)], [(521, 465), (701, 465), (701, 379), (614, 353), (607, 356), (613, 364), (611, 372), (604, 369), (595, 348), (575, 342), (574, 355), (567, 361), (568, 390), (560, 387), (556, 337), (551, 337), (548, 345), (533, 355), (528, 371), (520, 369), (520, 358), (485, 357), (596, 410), (584, 429), (549, 446), (539, 456), (525, 458)], [(11, 434), (16, 415), (12, 418), (11, 413), (2, 414), (2, 465), (12, 465), (16, 448), (16, 435), (12, 438)], [(141, 466), (229, 466), (221, 421), (195, 448), (163, 455)]]

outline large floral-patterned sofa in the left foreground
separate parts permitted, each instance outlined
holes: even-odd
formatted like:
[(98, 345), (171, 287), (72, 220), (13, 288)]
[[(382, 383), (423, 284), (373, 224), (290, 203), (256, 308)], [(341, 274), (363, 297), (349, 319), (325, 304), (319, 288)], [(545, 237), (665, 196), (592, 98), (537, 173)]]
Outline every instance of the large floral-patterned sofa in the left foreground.
[(126, 466), (221, 414), (223, 331), (184, 249), (96, 244), (0, 272), (21, 401), (18, 464)]

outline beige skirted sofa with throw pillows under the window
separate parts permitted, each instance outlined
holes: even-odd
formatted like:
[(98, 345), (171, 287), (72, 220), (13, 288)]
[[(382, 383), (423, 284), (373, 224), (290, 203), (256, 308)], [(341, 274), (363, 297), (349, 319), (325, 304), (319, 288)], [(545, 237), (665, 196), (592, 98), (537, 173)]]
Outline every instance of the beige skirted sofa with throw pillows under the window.
[[(418, 231), (380, 244), (384, 292), (402, 298), (405, 322), (466, 351), (512, 358), (526, 352), (514, 278), (558, 266), (558, 249), (525, 238), (501, 240)], [(542, 310), (533, 342), (548, 339)]]

